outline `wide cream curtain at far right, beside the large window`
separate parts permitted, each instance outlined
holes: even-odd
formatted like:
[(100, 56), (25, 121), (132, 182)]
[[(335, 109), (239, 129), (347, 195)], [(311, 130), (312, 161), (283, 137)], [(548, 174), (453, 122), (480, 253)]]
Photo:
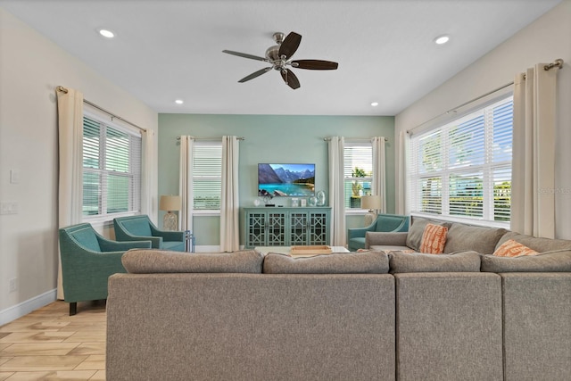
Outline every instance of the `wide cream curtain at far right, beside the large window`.
[(555, 237), (555, 124), (558, 70), (545, 63), (514, 80), (511, 229)]

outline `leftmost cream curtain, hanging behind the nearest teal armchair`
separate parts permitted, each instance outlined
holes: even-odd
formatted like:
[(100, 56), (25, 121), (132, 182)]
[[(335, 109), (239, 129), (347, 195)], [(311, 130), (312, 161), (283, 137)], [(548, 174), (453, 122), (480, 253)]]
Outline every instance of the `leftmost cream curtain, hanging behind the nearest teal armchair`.
[[(59, 183), (58, 227), (81, 222), (83, 198), (83, 94), (57, 90)], [(59, 250), (58, 250), (59, 252)], [(58, 256), (59, 257), (59, 256)], [(62, 261), (57, 275), (57, 298), (63, 299)]]

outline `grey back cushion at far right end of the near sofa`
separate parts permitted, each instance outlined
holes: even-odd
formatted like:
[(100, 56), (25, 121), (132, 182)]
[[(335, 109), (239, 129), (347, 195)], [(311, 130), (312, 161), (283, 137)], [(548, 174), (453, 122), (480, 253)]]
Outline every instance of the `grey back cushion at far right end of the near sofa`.
[(570, 272), (571, 250), (556, 250), (538, 255), (497, 257), (482, 255), (482, 271), (485, 272)]

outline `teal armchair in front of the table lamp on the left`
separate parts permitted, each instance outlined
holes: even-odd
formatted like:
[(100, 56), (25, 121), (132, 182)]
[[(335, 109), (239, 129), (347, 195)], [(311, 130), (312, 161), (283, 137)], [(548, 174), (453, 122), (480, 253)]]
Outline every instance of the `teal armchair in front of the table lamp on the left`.
[(184, 231), (159, 230), (145, 214), (113, 219), (118, 241), (151, 241), (154, 249), (186, 251)]

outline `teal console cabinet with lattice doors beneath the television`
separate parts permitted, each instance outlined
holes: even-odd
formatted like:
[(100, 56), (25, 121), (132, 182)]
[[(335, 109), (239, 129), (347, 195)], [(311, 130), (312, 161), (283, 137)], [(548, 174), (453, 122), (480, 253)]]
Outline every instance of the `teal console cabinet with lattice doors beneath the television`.
[(245, 247), (329, 244), (329, 207), (244, 208)]

